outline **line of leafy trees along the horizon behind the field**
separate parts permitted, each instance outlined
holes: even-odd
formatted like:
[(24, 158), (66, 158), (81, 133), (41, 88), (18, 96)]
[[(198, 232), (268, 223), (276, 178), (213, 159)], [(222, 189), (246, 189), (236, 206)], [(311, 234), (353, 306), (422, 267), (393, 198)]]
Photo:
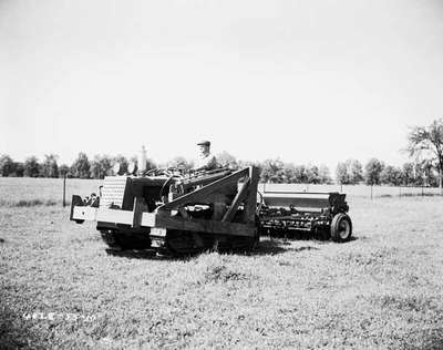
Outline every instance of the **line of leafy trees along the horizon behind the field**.
[[(393, 185), (393, 186), (442, 186), (443, 174), (443, 119), (435, 120), (429, 126), (414, 126), (408, 134), (408, 146), (404, 150), (412, 158), (402, 166), (385, 164), (371, 158), (364, 166), (357, 159), (347, 159), (337, 164), (334, 179), (343, 185)], [(255, 165), (260, 169), (260, 181), (264, 183), (287, 184), (331, 184), (332, 176), (326, 165), (296, 165), (279, 158), (264, 162), (236, 159), (228, 152), (216, 155), (220, 166), (233, 169)], [(42, 162), (35, 156), (28, 157), (23, 163), (14, 162), (9, 155), (0, 156), (1, 176), (29, 177), (78, 177), (103, 178), (113, 175), (113, 166), (120, 164), (120, 174), (125, 174), (130, 163), (136, 164), (137, 157), (126, 158), (123, 155), (95, 155), (92, 159), (83, 152), (71, 164), (58, 164), (59, 156), (47, 154)], [(194, 164), (178, 156), (165, 164), (156, 164), (147, 159), (147, 169), (155, 167), (174, 167), (189, 171)]]

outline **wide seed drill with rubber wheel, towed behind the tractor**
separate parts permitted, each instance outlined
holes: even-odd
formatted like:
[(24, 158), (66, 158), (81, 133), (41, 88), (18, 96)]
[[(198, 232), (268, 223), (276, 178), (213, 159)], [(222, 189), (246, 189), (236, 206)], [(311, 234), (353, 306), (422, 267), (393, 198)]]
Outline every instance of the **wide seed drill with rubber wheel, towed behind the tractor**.
[(259, 206), (261, 230), (269, 235), (321, 234), (334, 241), (348, 241), (352, 222), (344, 199), (346, 195), (339, 193), (265, 192)]

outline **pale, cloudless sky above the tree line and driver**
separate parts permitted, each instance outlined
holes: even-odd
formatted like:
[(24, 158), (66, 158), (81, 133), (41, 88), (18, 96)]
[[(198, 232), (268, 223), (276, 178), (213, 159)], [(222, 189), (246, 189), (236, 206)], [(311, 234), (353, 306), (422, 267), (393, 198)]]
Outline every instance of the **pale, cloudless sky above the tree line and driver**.
[(440, 0), (0, 0), (0, 154), (400, 165), (442, 62)]

